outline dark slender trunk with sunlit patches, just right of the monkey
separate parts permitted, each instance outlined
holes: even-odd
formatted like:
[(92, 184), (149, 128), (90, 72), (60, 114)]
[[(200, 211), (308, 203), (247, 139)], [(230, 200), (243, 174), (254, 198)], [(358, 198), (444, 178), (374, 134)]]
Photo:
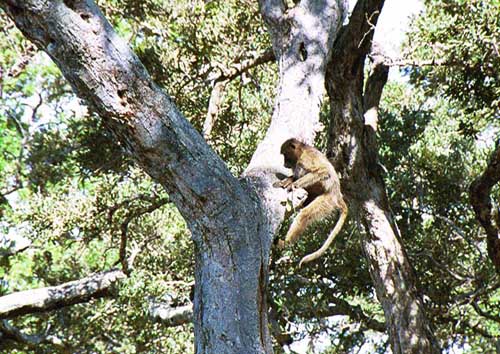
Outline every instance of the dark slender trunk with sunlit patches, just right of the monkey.
[(378, 163), (377, 109), (387, 80), (387, 69), (380, 63), (363, 90), (364, 62), (383, 2), (358, 1), (336, 41), (327, 79), (332, 114), (329, 156), (342, 176), (343, 192), (354, 210), (351, 215), (358, 215), (365, 231), (362, 247), (393, 353), (438, 353)]

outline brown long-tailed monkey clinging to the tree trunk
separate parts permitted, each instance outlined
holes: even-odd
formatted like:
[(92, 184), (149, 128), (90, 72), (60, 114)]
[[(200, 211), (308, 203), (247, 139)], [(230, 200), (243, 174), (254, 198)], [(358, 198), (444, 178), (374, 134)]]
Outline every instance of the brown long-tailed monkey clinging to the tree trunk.
[(285, 158), (285, 167), (293, 170), (293, 176), (280, 181), (278, 186), (288, 190), (303, 188), (307, 191), (307, 199), (304, 208), (293, 220), (285, 241), (278, 242), (280, 248), (297, 241), (313, 222), (331, 215), (335, 210), (340, 211), (339, 220), (323, 246), (302, 258), (300, 267), (303, 263), (315, 260), (325, 253), (344, 224), (347, 205), (340, 191), (337, 172), (320, 151), (297, 139), (289, 139), (281, 146), (281, 154)]

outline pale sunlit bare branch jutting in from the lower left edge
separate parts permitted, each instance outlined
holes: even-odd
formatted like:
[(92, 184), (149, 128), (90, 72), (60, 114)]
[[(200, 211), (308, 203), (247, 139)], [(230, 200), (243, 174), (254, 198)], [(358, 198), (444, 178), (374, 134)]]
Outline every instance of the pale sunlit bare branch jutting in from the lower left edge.
[(111, 287), (125, 278), (121, 270), (96, 273), (58, 286), (19, 291), (0, 297), (0, 319), (27, 313), (46, 312), (106, 296)]

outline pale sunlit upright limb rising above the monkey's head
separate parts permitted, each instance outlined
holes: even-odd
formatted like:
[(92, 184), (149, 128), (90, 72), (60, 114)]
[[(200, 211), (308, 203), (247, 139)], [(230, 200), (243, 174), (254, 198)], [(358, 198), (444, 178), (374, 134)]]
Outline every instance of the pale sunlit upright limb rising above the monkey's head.
[(247, 173), (280, 168), (279, 149), (286, 139), (312, 143), (322, 129), (319, 112), (325, 96), (326, 64), (346, 12), (343, 0), (303, 0), (291, 9), (280, 0), (261, 0), (259, 4), (271, 35), (279, 80), (271, 126)]

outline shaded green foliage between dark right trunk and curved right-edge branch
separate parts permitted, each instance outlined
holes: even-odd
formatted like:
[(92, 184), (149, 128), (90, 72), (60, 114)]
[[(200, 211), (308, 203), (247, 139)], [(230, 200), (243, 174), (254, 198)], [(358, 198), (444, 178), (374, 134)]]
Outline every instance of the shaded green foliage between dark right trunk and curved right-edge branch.
[[(391, 206), (425, 289), (436, 334), (446, 346), (462, 342), (491, 349), (481, 331), (488, 328), (487, 337), (496, 336), (500, 326), (481, 318), (474, 306), (494, 303), (498, 290), (490, 286), (496, 276), (468, 197), (487, 149), (461, 132), (460, 122), (466, 119), (462, 110), (443, 99), (429, 100), (418, 89), (386, 87), (381, 117), (381, 157)], [(460, 326), (452, 318), (460, 318)]]

